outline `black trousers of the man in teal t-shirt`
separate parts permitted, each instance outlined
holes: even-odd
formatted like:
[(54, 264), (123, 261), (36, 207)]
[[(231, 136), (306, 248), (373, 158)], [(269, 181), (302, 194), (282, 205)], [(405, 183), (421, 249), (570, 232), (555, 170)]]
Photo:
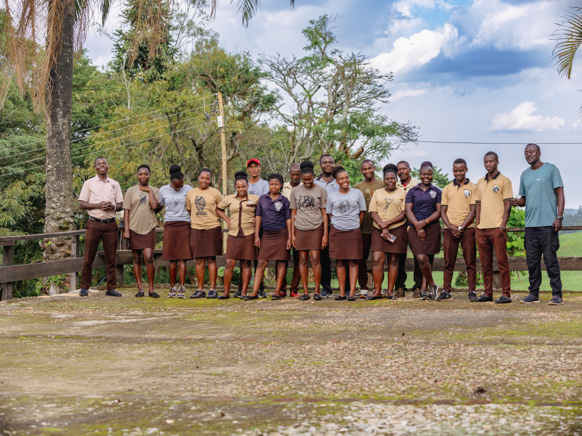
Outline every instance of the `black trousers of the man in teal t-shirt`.
[(540, 265), (542, 255), (546, 273), (548, 273), (549, 284), (552, 287), (552, 294), (562, 296), (562, 278), (560, 278), (560, 264), (556, 251), (560, 248), (558, 232), (552, 226), (526, 227), (526, 261), (527, 269), (530, 273), (531, 294), (537, 296), (540, 293), (542, 284), (542, 268)]

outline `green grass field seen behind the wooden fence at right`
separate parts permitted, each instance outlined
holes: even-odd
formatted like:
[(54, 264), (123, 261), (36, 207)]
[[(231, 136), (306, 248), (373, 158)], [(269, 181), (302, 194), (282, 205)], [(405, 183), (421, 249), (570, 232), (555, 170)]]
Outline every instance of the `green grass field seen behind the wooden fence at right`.
[[(412, 253), (408, 253), (409, 257), (412, 257)], [(459, 256), (461, 255), (459, 249)], [(582, 256), (582, 232), (578, 233), (568, 233), (565, 235), (560, 235), (560, 249), (558, 251), (558, 257), (578, 257)], [(442, 257), (442, 253), (439, 254)], [(453, 286), (455, 285), (455, 277), (453, 278)], [(439, 287), (442, 287), (442, 272), (436, 271), (434, 273), (434, 278)], [(512, 290), (516, 291), (527, 291), (529, 286), (529, 281), (527, 277), (527, 271), (525, 275), (521, 275), (521, 282), (515, 274), (512, 277), (511, 287)], [(385, 288), (388, 285), (388, 280), (384, 280), (382, 287)], [(408, 273), (408, 278), (406, 280), (406, 286), (411, 288), (414, 285), (414, 280), (412, 278), (412, 273)], [(332, 287), (337, 287), (338, 281), (332, 280)], [(582, 281), (580, 280), (580, 271), (562, 271), (562, 288), (567, 291), (582, 291)], [(358, 288), (357, 288), (358, 289)], [(549, 279), (545, 271), (542, 271), (542, 285), (541, 291), (551, 291), (549, 285)]]

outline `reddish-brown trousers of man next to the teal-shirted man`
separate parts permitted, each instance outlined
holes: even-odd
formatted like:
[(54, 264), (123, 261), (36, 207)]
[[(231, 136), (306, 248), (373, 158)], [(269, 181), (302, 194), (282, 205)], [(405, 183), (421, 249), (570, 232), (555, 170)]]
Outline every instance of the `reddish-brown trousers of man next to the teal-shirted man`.
[(485, 295), (493, 295), (493, 250), (497, 255), (497, 265), (501, 276), (501, 290), (503, 295), (511, 295), (511, 276), (509, 274), (509, 259), (507, 246), (508, 236), (501, 228), (478, 228), (475, 240), (479, 248), (479, 257), (483, 269), (483, 285)]

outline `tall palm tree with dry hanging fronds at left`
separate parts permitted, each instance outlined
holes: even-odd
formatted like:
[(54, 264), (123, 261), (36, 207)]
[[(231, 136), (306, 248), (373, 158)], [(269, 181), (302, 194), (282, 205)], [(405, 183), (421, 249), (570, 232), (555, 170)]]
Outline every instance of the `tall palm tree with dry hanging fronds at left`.
[[(146, 44), (157, 52), (166, 31), (168, 0), (132, 0), (139, 14), (133, 50)], [(33, 94), (34, 109), (43, 113), (47, 126), (46, 210), (47, 233), (73, 230), (74, 198), (71, 159), (71, 114), (74, 54), (83, 47), (89, 24), (100, 12), (107, 20), (112, 0), (6, 0), (5, 20), (0, 30), (0, 103), (12, 80), (21, 94), (27, 87)], [(131, 59), (133, 62), (133, 59)], [(13, 176), (15, 177), (15, 176)], [(70, 256), (70, 242), (62, 238), (45, 240), (45, 260)]]

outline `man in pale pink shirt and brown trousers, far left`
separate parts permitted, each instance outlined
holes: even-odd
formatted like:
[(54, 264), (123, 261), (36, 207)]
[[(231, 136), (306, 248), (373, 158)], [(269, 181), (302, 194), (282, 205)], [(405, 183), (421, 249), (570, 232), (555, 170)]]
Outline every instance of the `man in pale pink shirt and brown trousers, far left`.
[(107, 273), (107, 292), (105, 295), (121, 296), (115, 290), (115, 267), (117, 266), (117, 222), (116, 210), (123, 209), (123, 195), (119, 183), (107, 176), (109, 165), (107, 159), (99, 157), (95, 159), (95, 171), (97, 176), (91, 177), (83, 183), (79, 194), (79, 208), (87, 210), (89, 220), (85, 233), (85, 258), (81, 271), (80, 296), (89, 295), (91, 286), (91, 274), (93, 273), (93, 260), (97, 254), (99, 241), (103, 242), (105, 252), (105, 269)]

